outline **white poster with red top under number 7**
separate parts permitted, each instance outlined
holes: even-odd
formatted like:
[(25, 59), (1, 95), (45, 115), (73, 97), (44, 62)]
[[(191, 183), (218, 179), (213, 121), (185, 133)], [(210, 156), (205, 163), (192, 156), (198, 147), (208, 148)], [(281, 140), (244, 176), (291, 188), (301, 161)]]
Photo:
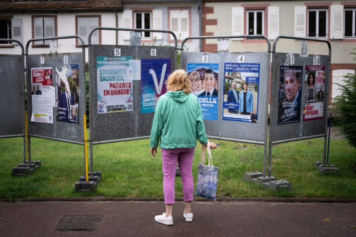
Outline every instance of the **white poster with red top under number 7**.
[(31, 122), (53, 123), (52, 67), (31, 68)]

